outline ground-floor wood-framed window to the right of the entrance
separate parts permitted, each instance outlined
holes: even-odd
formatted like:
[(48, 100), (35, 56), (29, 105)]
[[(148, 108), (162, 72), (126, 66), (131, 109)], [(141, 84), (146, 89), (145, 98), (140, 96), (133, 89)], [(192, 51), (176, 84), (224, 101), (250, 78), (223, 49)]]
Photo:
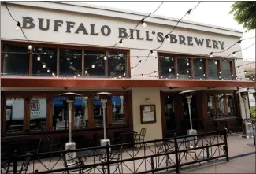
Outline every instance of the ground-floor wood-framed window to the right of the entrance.
[(233, 94), (210, 94), (206, 96), (209, 119), (235, 117)]

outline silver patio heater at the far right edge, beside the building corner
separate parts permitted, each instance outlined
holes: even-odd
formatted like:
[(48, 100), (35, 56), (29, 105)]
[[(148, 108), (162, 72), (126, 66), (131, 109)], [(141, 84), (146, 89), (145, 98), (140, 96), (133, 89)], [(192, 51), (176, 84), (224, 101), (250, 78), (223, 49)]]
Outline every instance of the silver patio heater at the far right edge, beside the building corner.
[(247, 105), (246, 105), (246, 100), (247, 100), (247, 94), (248, 94), (248, 90), (244, 90), (244, 91), (237, 91), (236, 94), (240, 94), (241, 97), (243, 98), (243, 104), (244, 104), (244, 110), (245, 110), (245, 117), (246, 120), (243, 121), (243, 138), (253, 138), (253, 128), (252, 128), (252, 124), (248, 121), (248, 116), (247, 116)]

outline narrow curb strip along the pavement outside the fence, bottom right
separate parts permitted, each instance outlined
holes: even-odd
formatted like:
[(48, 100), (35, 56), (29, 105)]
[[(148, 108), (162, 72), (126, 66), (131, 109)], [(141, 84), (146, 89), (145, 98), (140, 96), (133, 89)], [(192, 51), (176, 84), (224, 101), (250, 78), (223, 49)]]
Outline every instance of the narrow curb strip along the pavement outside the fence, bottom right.
[[(247, 157), (249, 155), (252, 155), (252, 154), (256, 154), (256, 152), (250, 152), (250, 153), (247, 153), (247, 154), (239, 154), (239, 155), (236, 155), (236, 156), (233, 156), (233, 157), (229, 157), (229, 160), (233, 160), (233, 159), (236, 159), (236, 158), (239, 158), (239, 157)], [(195, 169), (195, 168), (202, 168), (202, 167), (206, 167), (208, 165), (215, 165), (215, 164), (221, 164), (221, 163), (227, 163), (226, 161), (226, 158), (221, 158), (221, 159), (217, 159), (217, 160), (213, 160), (213, 161), (207, 161), (207, 162), (204, 162), (203, 164), (198, 164), (198, 165), (191, 165), (191, 166), (187, 166), (187, 167), (183, 167), (183, 168), (180, 168), (180, 172), (184, 172), (186, 170), (190, 170), (190, 169)], [(176, 170), (169, 170), (168, 172), (163, 172), (163, 173), (176, 173)]]

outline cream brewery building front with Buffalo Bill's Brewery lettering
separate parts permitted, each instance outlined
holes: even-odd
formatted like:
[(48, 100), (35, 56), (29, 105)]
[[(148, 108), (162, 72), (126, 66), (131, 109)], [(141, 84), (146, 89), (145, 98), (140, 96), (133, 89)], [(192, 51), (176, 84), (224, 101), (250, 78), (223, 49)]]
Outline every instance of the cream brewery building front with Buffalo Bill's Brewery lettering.
[(81, 94), (72, 105), (74, 135), (102, 132), (99, 91), (113, 93), (106, 106), (112, 136), (141, 128), (146, 139), (186, 134), (187, 100), (179, 92), (187, 89), (197, 91), (191, 100), (195, 129), (213, 131), (218, 121), (228, 126), (245, 117), (236, 91), (254, 82), (238, 73), (241, 52), (227, 57), (241, 50), (232, 45), (242, 31), (182, 20), (164, 39), (177, 19), (152, 15), (146, 28), (139, 24), (132, 32), (143, 13), (62, 2), (7, 4), (29, 42), (1, 4), (2, 137), (68, 135), (68, 108), (58, 96), (66, 91)]

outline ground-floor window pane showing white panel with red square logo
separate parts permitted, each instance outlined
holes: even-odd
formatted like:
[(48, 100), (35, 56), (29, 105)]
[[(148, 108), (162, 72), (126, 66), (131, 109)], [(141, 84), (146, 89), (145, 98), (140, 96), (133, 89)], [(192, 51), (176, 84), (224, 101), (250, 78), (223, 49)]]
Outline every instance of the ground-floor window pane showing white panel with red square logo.
[(47, 98), (32, 98), (30, 100), (30, 130), (47, 130)]

